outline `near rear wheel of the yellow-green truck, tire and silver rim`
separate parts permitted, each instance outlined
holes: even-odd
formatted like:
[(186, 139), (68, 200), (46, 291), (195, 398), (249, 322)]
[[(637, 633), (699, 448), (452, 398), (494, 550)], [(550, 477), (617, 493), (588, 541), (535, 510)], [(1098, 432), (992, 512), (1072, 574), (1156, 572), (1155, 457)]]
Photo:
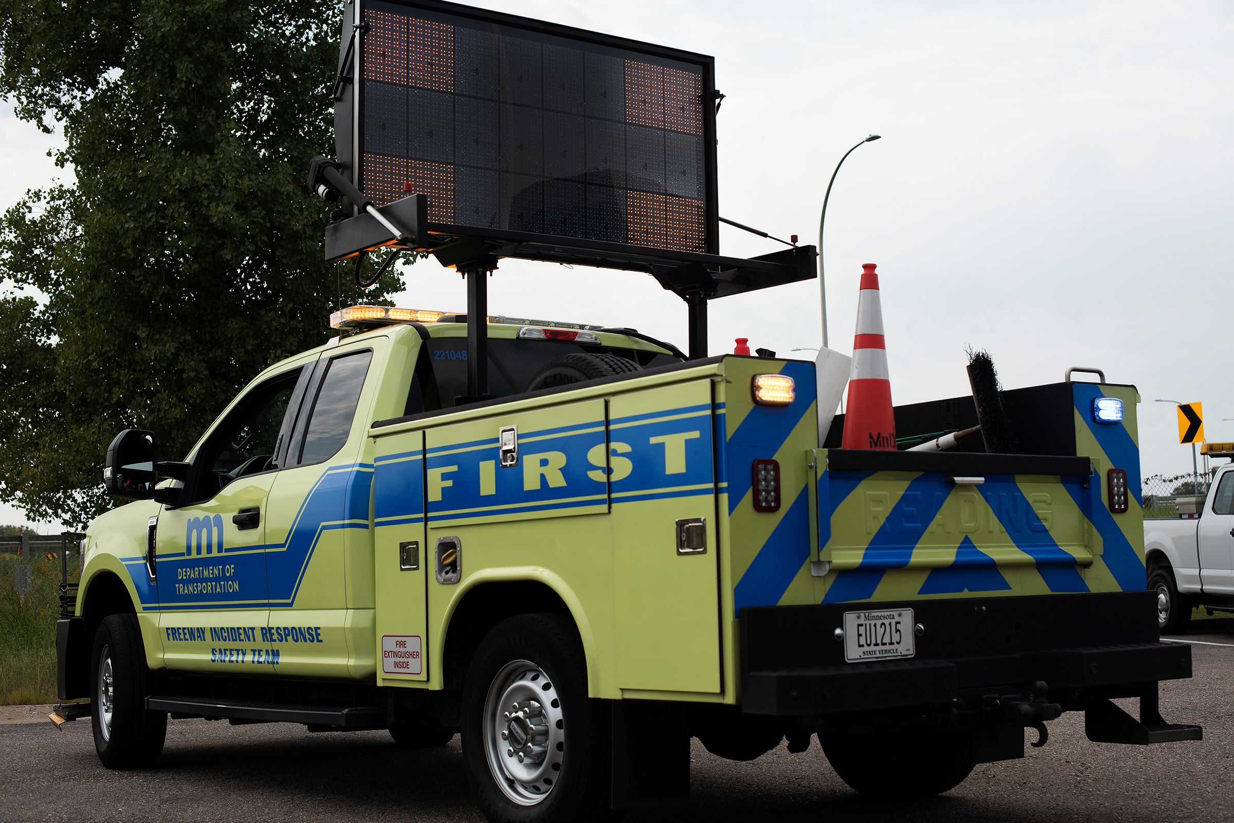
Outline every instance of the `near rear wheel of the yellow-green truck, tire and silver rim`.
[(613, 819), (606, 703), (587, 697), (574, 625), (511, 617), (481, 641), (463, 686), (468, 782), (492, 823)]

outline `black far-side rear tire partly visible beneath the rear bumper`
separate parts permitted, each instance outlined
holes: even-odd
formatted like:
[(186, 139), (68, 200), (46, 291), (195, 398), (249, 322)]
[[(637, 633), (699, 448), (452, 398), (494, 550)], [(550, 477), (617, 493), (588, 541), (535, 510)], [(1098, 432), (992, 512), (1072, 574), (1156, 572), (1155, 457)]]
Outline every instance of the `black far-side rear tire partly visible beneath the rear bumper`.
[(818, 742), (840, 780), (871, 797), (942, 795), (974, 766), (972, 737), (960, 731), (819, 732)]

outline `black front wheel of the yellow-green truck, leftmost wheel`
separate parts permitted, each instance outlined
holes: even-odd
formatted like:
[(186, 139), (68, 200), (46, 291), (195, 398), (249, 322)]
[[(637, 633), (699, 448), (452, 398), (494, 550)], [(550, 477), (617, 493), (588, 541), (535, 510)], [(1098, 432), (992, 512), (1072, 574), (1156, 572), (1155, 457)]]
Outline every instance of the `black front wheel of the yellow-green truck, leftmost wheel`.
[(167, 712), (146, 708), (154, 678), (137, 615), (110, 615), (94, 638), (90, 726), (94, 748), (109, 769), (153, 766), (163, 754)]

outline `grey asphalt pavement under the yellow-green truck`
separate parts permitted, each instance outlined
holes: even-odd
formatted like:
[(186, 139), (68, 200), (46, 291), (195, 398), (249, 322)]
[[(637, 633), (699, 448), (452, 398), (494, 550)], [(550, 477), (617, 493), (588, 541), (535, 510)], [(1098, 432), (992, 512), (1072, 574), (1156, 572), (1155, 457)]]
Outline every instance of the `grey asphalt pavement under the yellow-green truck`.
[[(781, 747), (754, 763), (721, 760), (695, 742), (690, 803), (634, 809), (626, 821), (1234, 821), (1234, 618), (1193, 628), (1185, 638), (1193, 642), (1196, 676), (1162, 686), (1161, 713), (1202, 724), (1201, 742), (1096, 744), (1083, 734), (1082, 715), (1065, 715), (1050, 723), (1045, 748), (980, 765), (958, 789), (913, 803), (854, 795), (817, 742), (803, 754)], [(89, 721), (57, 732), (33, 710), (0, 711), (0, 821), (481, 819), (458, 738), (408, 752), (385, 732), (172, 721), (157, 770), (117, 772), (95, 758)]]

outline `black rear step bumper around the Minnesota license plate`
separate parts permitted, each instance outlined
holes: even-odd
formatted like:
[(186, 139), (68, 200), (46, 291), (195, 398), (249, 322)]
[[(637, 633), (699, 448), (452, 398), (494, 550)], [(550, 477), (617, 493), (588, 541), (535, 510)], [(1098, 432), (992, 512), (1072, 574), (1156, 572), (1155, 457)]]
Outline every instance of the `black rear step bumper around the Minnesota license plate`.
[[(845, 662), (835, 630), (844, 612), (871, 606), (913, 610), (922, 627), (913, 658)], [(1191, 647), (1160, 642), (1156, 618), (1151, 591), (743, 609), (742, 708), (798, 717), (977, 711), (1045, 683), (1053, 700), (1086, 710), (1096, 740), (1199, 739), (1199, 727), (1170, 726), (1157, 713), (1157, 683), (1191, 676)], [(1109, 702), (1118, 696), (1141, 699), (1139, 721)]]

